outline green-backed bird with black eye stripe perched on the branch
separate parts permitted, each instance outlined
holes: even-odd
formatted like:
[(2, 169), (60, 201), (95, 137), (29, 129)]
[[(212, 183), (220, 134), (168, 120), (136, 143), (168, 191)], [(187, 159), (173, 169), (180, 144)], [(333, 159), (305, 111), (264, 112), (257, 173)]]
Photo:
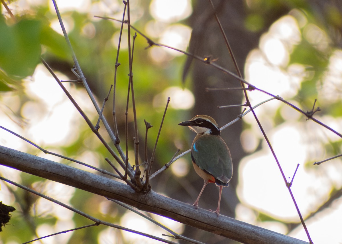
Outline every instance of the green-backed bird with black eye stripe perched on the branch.
[(197, 175), (203, 178), (204, 185), (193, 205), (197, 208), (207, 184), (215, 183), (220, 187), (219, 203), (216, 211), (210, 211), (219, 216), (222, 189), (228, 187), (233, 174), (231, 153), (221, 137), (220, 128), (208, 115), (197, 115), (178, 125), (188, 126), (197, 133), (191, 146), (191, 159)]

